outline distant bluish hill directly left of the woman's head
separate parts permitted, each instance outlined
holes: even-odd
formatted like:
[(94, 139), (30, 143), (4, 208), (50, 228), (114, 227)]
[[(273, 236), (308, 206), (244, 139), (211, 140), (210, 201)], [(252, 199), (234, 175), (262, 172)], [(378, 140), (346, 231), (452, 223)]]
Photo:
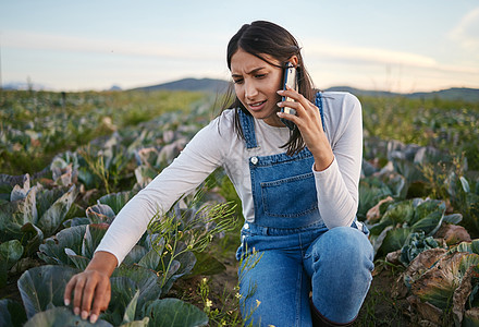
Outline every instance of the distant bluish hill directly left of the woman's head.
[(213, 92), (223, 93), (228, 89), (230, 83), (223, 80), (213, 78), (183, 78), (164, 84), (151, 85), (146, 87), (134, 88), (135, 90), (193, 90), (193, 92)]

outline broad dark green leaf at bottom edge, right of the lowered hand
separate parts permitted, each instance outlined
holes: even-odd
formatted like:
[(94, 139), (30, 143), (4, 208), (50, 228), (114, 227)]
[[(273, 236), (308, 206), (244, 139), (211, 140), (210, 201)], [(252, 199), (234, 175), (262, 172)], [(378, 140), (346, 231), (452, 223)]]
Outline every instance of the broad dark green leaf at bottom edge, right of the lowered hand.
[(150, 326), (156, 327), (196, 327), (207, 326), (208, 316), (193, 304), (179, 299), (156, 300), (147, 305), (145, 314)]

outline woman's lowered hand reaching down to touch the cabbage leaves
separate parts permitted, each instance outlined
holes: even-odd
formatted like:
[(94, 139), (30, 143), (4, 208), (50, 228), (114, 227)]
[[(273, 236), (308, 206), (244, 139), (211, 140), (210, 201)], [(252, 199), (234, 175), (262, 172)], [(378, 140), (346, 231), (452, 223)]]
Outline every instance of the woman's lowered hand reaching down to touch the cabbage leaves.
[(65, 305), (70, 305), (73, 293), (74, 314), (81, 315), (82, 319), (89, 316), (90, 323), (94, 324), (100, 312), (106, 311), (110, 303), (110, 276), (116, 265), (118, 261), (113, 254), (100, 251), (95, 253), (85, 271), (73, 276), (66, 284)]

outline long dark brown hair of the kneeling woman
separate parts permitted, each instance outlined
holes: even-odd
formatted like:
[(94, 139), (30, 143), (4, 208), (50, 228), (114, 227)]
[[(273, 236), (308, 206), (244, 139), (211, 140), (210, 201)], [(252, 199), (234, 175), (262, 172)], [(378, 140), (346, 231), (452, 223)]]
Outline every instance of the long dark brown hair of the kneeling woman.
[[(266, 58), (263, 58), (263, 55), (269, 55), (284, 64), (291, 59), (291, 57), (296, 56), (298, 59), (296, 66), (298, 92), (305, 98), (314, 101), (315, 89), (311, 77), (306, 71), (303, 62), (299, 45), (293, 35), (290, 34), (290, 32), (274, 23), (266, 21), (256, 21), (251, 24), (243, 25), (228, 44), (226, 62), (230, 70), (231, 58), (238, 49), (256, 56), (274, 66), (279, 65), (268, 61)], [(284, 69), (284, 65), (281, 65), (281, 68)], [(250, 113), (234, 94), (233, 84), (230, 85), (230, 89), (222, 109), (224, 110), (228, 108), (235, 108), (234, 129), (236, 134), (244, 138), (243, 130), (240, 124), (238, 110), (242, 110), (249, 116)], [(286, 153), (290, 156), (300, 152), (305, 147), (305, 143), (297, 128), (291, 132), (290, 140), (283, 145), (283, 147), (286, 148)]]

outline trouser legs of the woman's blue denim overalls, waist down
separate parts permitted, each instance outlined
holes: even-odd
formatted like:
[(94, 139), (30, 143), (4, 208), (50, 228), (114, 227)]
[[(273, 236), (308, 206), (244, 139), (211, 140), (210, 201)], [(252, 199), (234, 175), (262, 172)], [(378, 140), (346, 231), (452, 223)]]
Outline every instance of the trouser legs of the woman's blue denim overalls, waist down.
[[(237, 256), (243, 255), (240, 293), (246, 325), (311, 326), (310, 292), (328, 319), (349, 323), (357, 316), (372, 279), (372, 246), (355, 223), (321, 226), (244, 226)], [(245, 264), (244, 254), (253, 249), (258, 259), (249, 256)]]

